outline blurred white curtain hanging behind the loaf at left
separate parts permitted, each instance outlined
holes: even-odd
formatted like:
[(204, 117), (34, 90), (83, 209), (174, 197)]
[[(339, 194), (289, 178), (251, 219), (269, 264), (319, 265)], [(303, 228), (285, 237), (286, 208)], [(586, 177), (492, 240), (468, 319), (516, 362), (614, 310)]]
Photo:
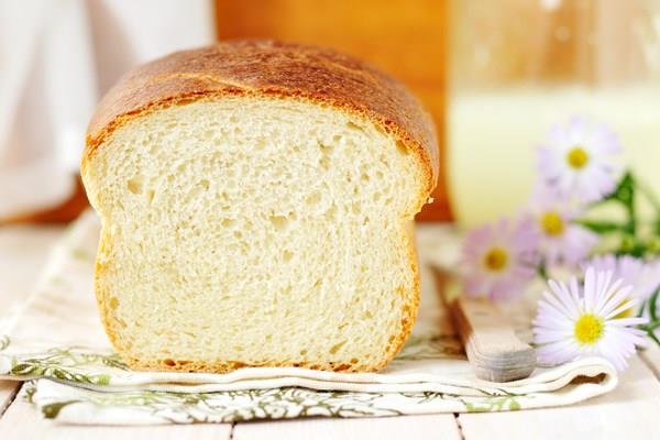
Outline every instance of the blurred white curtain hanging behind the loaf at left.
[(98, 99), (215, 40), (212, 0), (0, 0), (0, 219), (70, 196)]

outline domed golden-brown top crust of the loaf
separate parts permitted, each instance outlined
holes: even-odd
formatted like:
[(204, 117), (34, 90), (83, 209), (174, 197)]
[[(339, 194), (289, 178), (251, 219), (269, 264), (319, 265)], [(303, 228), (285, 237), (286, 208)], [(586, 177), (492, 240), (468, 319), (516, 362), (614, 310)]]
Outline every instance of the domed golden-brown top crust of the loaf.
[(128, 73), (97, 107), (82, 167), (112, 131), (132, 118), (235, 95), (310, 100), (364, 116), (419, 155), (426, 197), (436, 186), (439, 152), (433, 124), (399, 82), (330, 50), (273, 41), (234, 41), (177, 52)]

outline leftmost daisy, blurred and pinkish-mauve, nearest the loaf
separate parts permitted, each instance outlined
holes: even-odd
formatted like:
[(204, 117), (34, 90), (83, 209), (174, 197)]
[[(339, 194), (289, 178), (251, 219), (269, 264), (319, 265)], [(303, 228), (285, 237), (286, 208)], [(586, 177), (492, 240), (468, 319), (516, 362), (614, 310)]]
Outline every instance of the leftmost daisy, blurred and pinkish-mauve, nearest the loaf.
[(472, 230), (463, 246), (465, 290), (474, 296), (510, 299), (536, 274), (538, 237), (530, 219), (503, 219)]

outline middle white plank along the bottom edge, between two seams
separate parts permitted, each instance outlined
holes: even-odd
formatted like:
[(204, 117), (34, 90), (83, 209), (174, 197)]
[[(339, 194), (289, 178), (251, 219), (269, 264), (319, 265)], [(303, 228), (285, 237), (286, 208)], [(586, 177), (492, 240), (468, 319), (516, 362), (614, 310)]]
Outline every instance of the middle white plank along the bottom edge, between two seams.
[(297, 419), (238, 424), (234, 440), (459, 440), (461, 435), (451, 414), (358, 419)]

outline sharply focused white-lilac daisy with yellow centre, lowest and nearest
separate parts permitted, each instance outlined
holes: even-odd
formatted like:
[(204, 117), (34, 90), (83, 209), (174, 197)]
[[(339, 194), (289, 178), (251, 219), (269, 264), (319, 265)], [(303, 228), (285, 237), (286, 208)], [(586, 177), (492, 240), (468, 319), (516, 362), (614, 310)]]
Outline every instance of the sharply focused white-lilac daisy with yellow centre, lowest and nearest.
[(534, 320), (537, 356), (547, 364), (560, 364), (586, 356), (601, 356), (617, 370), (627, 366), (636, 345), (645, 342), (644, 332), (634, 328), (645, 318), (619, 318), (639, 301), (632, 287), (613, 282), (612, 272), (586, 270), (584, 286), (574, 277), (570, 283), (550, 280), (550, 292), (539, 300)]

